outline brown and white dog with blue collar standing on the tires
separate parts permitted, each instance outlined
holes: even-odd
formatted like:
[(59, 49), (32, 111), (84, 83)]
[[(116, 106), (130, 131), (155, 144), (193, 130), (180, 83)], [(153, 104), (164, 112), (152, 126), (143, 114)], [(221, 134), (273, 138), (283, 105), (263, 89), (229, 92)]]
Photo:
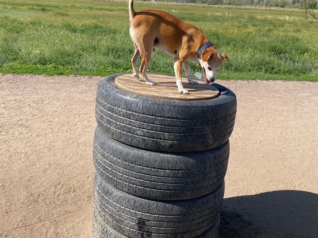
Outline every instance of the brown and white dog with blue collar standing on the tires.
[(205, 81), (209, 84), (215, 80), (215, 74), (221, 68), (222, 62), (229, 59), (225, 54), (218, 53), (213, 44), (203, 49), (203, 46), (210, 41), (196, 26), (160, 10), (135, 12), (133, 3), (134, 0), (129, 0), (130, 37), (135, 46), (135, 54), (131, 62), (136, 78), (139, 79), (137, 60), (141, 56), (139, 72), (147, 84), (157, 84), (147, 77), (147, 66), (156, 47), (174, 56), (173, 67), (179, 93), (188, 94), (182, 84), (182, 65), (189, 83), (197, 84), (191, 79), (189, 61), (194, 62), (199, 59)]

